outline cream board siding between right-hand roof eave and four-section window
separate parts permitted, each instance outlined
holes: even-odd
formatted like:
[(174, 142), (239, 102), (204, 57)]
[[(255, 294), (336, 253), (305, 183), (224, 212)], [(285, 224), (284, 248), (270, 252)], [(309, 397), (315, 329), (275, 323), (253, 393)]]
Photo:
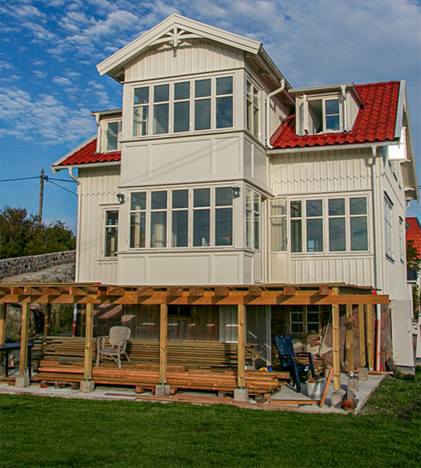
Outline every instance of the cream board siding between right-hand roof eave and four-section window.
[(366, 150), (286, 152), (272, 157), (276, 195), (370, 190)]

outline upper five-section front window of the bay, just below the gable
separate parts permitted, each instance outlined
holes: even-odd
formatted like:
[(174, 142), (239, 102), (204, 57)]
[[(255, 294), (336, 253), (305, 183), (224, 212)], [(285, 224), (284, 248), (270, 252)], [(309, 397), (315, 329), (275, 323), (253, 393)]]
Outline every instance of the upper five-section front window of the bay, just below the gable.
[[(255, 108), (258, 106), (255, 96), (253, 105)], [(133, 89), (133, 136), (225, 129), (233, 124), (233, 77), (195, 79)]]

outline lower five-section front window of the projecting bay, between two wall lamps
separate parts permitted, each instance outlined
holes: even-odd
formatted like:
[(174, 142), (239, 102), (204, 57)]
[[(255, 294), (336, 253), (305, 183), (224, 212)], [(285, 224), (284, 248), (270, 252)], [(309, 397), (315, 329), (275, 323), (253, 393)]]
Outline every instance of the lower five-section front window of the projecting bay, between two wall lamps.
[(131, 193), (130, 247), (233, 245), (232, 187)]

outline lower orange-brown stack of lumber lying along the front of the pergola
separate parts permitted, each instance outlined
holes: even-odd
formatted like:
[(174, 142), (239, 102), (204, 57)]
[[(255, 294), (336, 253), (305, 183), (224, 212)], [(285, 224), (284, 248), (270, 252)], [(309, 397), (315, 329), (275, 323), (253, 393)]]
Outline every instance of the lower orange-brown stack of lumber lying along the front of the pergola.
[[(246, 370), (245, 386), (250, 394), (267, 394), (286, 384), (289, 378), (288, 372)], [(44, 360), (35, 379), (78, 382), (83, 379), (83, 366), (81, 363), (60, 365), (58, 362)], [(142, 368), (133, 365), (122, 369), (113, 368), (111, 365), (94, 367), (92, 380), (95, 384), (153, 389), (159, 384), (159, 370), (157, 366)], [(183, 366), (168, 366), (166, 382), (175, 389), (233, 392), (237, 387), (237, 375), (236, 370), (232, 369), (187, 369)]]

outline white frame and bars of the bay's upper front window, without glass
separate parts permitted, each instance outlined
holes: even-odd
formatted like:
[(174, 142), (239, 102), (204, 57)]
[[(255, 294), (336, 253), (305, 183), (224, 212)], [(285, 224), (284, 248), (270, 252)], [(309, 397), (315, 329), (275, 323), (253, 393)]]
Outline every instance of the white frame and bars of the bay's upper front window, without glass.
[[(217, 79), (219, 78), (232, 78), (232, 93), (217, 95)], [(209, 129), (194, 129), (195, 123), (195, 116), (194, 116), (194, 103), (195, 100), (199, 100), (201, 98), (195, 98), (194, 96), (194, 86), (195, 82), (199, 82), (202, 80), (210, 79), (210, 128)], [(175, 84), (180, 83), (187, 83), (189, 82), (189, 98), (184, 99), (184, 101), (189, 101), (189, 130), (188, 131), (174, 131), (174, 104), (177, 102), (181, 102), (181, 100), (175, 100)], [(162, 134), (154, 134), (154, 105), (159, 105), (159, 103), (154, 103), (154, 86), (161, 86), (161, 85), (169, 85), (169, 100), (168, 102), (168, 132)], [(149, 89), (149, 102), (148, 103), (139, 103), (135, 104), (135, 90), (141, 88), (148, 88)], [(232, 98), (232, 126), (224, 126), (224, 127), (217, 127), (217, 100), (218, 98)], [(147, 131), (145, 135), (135, 135), (134, 131), (134, 109), (135, 108), (147, 108)], [(166, 136), (178, 136), (178, 135), (185, 135), (185, 134), (200, 134), (203, 132), (210, 132), (210, 131), (225, 131), (225, 130), (232, 130), (235, 126), (235, 76), (232, 73), (228, 74), (219, 74), (214, 76), (197, 76), (194, 78), (188, 79), (178, 79), (174, 82), (149, 82), (145, 84), (138, 84), (134, 85), (131, 88), (131, 128), (130, 128), (130, 136), (131, 139), (138, 139), (138, 138), (160, 138)]]

